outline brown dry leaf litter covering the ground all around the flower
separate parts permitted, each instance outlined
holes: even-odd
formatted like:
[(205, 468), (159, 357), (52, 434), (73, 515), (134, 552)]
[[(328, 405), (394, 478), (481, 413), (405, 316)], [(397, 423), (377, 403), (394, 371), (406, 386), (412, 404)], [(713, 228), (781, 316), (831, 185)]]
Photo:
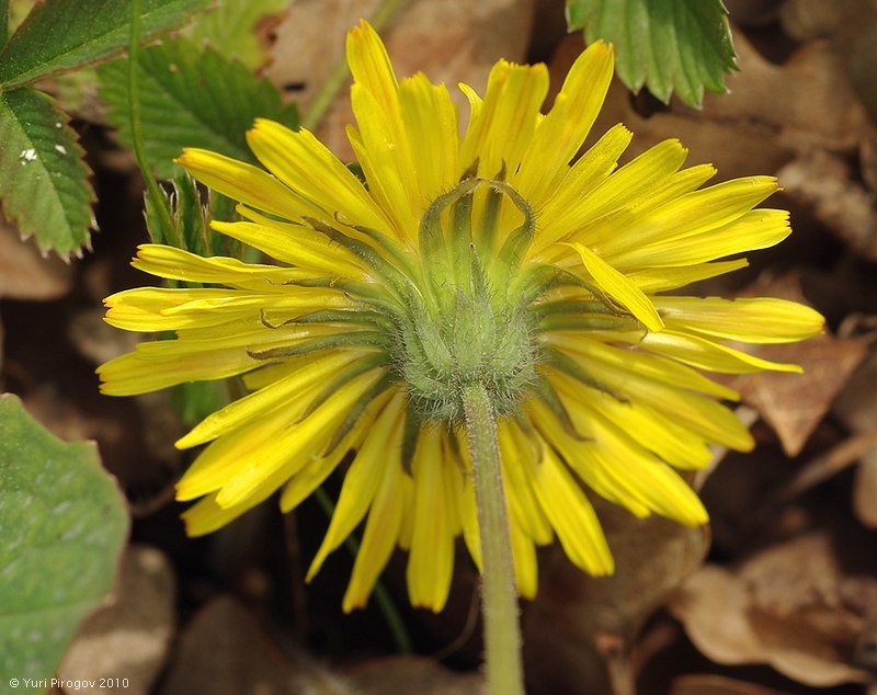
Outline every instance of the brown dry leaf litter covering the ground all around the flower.
[[(777, 174), (785, 191), (772, 204), (791, 209), (796, 233), (698, 290), (804, 298), (827, 315), (830, 330), (782, 354), (765, 349), (765, 357), (802, 364), (805, 376), (737, 381), (758, 420), (759, 448), (717, 457), (703, 488), (711, 528), (600, 508), (618, 572), (599, 580), (544, 549), (539, 595), (522, 606), (531, 695), (877, 690), (877, 88), (865, 79), (873, 78), (877, 41), (866, 41), (863, 19), (874, 5), (727, 4), (731, 20), (742, 22), (734, 27), (741, 70), (728, 78), (729, 94), (708, 95), (698, 111), (676, 100), (664, 106), (647, 94), (633, 98), (616, 83), (594, 133), (624, 122), (636, 136), (631, 157), (679, 137), (688, 163), (711, 161), (722, 180)], [(363, 3), (356, 16), (345, 14), (352, 9), (303, 0), (269, 18), (274, 43), (259, 50), (273, 60), (263, 72), (287, 98), (312, 99), (321, 76), (307, 66), (315, 55), (326, 68), (340, 56), (344, 30), (367, 10)], [(549, 59), (556, 87), (582, 47), (580, 36), (566, 36), (556, 10), (547, 0), (415, 2), (386, 36), (406, 73), (422, 69), (480, 89), (498, 57), (537, 58)], [(253, 54), (257, 62), (264, 61)], [(343, 145), (349, 119), (342, 95), (320, 126), (342, 157), (351, 156)], [(184, 538), (180, 509), (167, 501), (184, 463), (160, 444), (179, 429), (168, 402), (107, 403), (94, 395), (93, 364), (128, 349), (99, 330), (94, 308), (101, 296), (140, 282), (127, 262), (145, 236), (132, 213), (141, 198), (130, 158), (94, 130), (82, 138), (96, 164), (104, 231), (94, 237), (94, 254), (66, 271), (29, 251), (21, 264), (34, 270), (20, 276), (19, 249), (0, 239), (0, 267), (8, 269), (0, 274), (0, 379), (56, 432), (96, 438), (105, 465), (141, 502), (134, 537), (164, 559), (160, 581), (126, 563), (125, 576), (134, 572), (141, 586), (133, 595), (153, 613), (151, 647), (136, 659), (139, 692), (478, 692), (472, 568), (457, 563), (449, 607), (433, 616), (405, 607), (405, 565), (390, 562), (385, 585), (418, 654), (392, 656), (374, 601), (351, 616), (340, 611), (350, 558), (337, 554), (323, 576), (300, 589), (301, 568), (327, 525), (316, 504), (304, 505), (295, 523), (266, 508), (238, 529)], [(132, 549), (130, 558), (143, 551)], [(126, 581), (118, 606), (107, 608), (117, 617), (103, 618), (105, 636), (136, 623), (122, 608)], [(135, 633), (145, 634), (138, 625)], [(77, 657), (80, 648), (71, 648), (72, 663), (98, 659)], [(119, 648), (106, 651), (115, 652), (116, 666), (125, 663)]]

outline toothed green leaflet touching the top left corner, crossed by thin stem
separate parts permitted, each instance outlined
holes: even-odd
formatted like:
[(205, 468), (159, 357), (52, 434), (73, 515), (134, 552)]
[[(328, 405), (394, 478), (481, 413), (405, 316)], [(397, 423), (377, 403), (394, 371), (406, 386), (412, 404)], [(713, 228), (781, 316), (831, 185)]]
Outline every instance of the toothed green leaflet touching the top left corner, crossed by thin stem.
[[(143, 0), (140, 38), (189, 20), (212, 0)], [(46, 0), (0, 52), (0, 86), (12, 89), (118, 55), (128, 45), (130, 0)]]

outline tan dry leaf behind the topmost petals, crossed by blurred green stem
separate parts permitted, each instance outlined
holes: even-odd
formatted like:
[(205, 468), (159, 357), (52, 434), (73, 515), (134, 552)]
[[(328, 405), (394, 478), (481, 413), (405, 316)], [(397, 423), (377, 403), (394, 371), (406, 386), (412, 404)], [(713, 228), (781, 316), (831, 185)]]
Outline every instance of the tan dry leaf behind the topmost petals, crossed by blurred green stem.
[[(277, 27), (273, 64), (266, 75), (280, 86), (303, 86), (296, 101), (306, 110), (329, 70), (343, 56), (344, 37), (376, 0), (303, 0)], [(444, 81), (468, 113), (455, 86), (466, 82), (483, 92), (499, 58), (523, 61), (533, 21), (534, 0), (411, 0), (381, 32), (397, 75), (418, 70)], [(353, 122), (350, 96), (342, 90), (317, 134), (339, 157), (353, 159), (344, 127)]]

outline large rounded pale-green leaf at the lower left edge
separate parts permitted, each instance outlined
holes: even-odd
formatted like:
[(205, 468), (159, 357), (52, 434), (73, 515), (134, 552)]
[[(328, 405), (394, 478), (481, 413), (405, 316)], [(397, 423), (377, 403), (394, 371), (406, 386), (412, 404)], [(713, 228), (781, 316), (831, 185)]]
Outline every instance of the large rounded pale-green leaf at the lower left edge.
[(24, 686), (24, 679), (55, 672), (79, 623), (113, 586), (128, 519), (93, 443), (54, 437), (12, 395), (0, 396), (0, 683), (7, 692), (11, 679)]

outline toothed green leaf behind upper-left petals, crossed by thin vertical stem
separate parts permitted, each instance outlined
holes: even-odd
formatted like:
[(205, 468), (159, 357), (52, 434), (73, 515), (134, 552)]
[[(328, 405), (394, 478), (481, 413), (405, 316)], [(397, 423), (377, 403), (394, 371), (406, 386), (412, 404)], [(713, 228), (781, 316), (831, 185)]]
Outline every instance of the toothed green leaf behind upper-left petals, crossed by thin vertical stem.
[[(179, 171), (171, 160), (183, 147), (255, 162), (244, 134), (257, 116), (298, 125), (295, 106), (284, 106), (271, 82), (212, 48), (197, 50), (184, 38), (168, 41), (143, 50), (139, 67), (146, 155), (159, 178)], [(101, 66), (98, 75), (107, 117), (130, 147), (127, 69), (127, 59), (121, 59)]]

